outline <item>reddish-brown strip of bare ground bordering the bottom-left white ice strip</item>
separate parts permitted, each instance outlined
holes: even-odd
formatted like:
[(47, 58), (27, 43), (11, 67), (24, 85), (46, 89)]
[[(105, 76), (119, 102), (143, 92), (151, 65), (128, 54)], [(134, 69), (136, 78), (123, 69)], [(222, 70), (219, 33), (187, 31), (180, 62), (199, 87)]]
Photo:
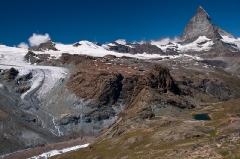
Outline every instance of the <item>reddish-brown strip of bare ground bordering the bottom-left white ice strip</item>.
[(65, 142), (59, 142), (59, 143), (54, 143), (54, 144), (48, 144), (44, 147), (36, 147), (33, 149), (28, 149), (25, 151), (21, 151), (21, 152), (16, 152), (13, 153), (9, 156), (4, 157), (3, 159), (26, 159), (26, 158), (30, 158), (33, 156), (37, 156), (40, 155), (44, 152), (48, 152), (51, 150), (61, 150), (67, 147), (73, 147), (76, 145), (83, 145), (86, 143), (92, 143), (96, 140), (95, 137), (84, 137), (84, 138), (77, 138), (75, 140), (69, 140), (69, 141), (65, 141)]

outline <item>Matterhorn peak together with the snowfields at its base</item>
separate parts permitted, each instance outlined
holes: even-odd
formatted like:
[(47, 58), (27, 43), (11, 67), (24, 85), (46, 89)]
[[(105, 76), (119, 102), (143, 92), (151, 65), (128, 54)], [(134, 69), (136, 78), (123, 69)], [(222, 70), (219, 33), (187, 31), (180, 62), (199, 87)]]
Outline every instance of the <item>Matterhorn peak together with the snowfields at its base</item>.
[(239, 38), (212, 24), (210, 16), (201, 6), (198, 7), (197, 13), (186, 25), (183, 35), (178, 40), (173, 39), (165, 45), (161, 45), (161, 41), (152, 41), (151, 44), (155, 44), (164, 52), (174, 49), (178, 53), (199, 52), (201, 54), (206, 51), (214, 52), (213, 50), (219, 50), (219, 48), (225, 48), (231, 52), (240, 51)]

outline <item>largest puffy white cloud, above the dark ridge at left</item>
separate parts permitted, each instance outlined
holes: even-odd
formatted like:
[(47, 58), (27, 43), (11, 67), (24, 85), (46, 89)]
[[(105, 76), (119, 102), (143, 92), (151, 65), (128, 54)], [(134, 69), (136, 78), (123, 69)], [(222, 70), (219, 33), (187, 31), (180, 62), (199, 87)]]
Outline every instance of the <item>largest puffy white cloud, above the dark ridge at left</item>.
[(47, 33), (45, 35), (33, 33), (33, 35), (28, 39), (30, 46), (38, 46), (48, 40), (51, 40), (51, 38)]

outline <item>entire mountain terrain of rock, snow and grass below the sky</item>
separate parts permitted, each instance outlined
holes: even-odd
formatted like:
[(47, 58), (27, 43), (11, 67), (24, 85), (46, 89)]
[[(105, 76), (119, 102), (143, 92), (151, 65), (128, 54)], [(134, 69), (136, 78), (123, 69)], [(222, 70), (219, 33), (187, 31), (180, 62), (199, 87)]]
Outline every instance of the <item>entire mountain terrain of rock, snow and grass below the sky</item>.
[(0, 156), (239, 157), (239, 50), (202, 7), (175, 39), (0, 45)]

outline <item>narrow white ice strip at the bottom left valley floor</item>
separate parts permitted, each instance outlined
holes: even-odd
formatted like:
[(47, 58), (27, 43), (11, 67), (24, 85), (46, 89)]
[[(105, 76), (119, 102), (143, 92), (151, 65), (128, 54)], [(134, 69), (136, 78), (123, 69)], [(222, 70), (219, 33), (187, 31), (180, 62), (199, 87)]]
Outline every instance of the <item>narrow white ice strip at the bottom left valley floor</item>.
[(52, 150), (52, 151), (49, 151), (49, 152), (45, 152), (45, 153), (43, 153), (39, 156), (30, 157), (29, 159), (40, 159), (40, 158), (48, 159), (49, 157), (53, 157), (53, 156), (56, 156), (56, 155), (59, 155), (59, 154), (69, 152), (69, 151), (74, 151), (74, 150), (77, 150), (77, 149), (80, 149), (80, 148), (88, 147), (88, 145), (89, 144), (84, 144), (84, 145), (77, 145), (77, 146), (65, 148), (65, 149), (62, 149), (62, 150)]

